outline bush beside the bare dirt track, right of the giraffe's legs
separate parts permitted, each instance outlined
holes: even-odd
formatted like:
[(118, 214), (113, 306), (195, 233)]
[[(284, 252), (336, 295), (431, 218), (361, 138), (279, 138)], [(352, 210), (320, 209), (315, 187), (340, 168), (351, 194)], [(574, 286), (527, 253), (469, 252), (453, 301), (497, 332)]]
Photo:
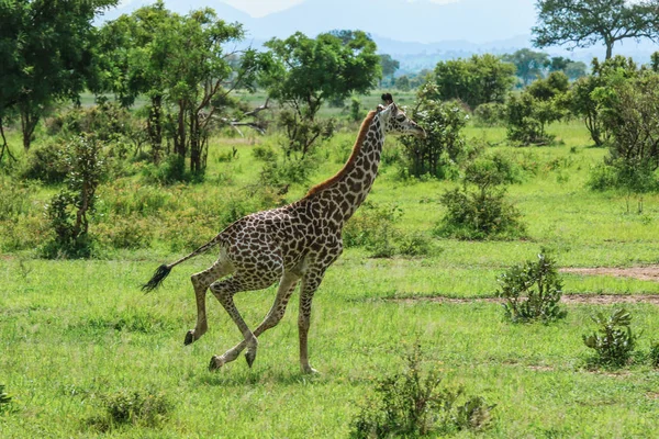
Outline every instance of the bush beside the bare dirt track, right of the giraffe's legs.
[(566, 312), (558, 305), (562, 282), (554, 259), (540, 252), (538, 260), (511, 267), (498, 279), (499, 297), (505, 303), (505, 316), (514, 323), (563, 318)]

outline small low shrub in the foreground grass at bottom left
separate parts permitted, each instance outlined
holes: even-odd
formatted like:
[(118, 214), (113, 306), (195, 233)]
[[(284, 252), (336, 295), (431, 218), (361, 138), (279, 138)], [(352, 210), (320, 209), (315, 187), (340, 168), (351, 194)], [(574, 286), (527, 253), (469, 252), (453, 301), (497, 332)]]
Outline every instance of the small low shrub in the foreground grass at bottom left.
[(100, 401), (104, 413), (90, 419), (89, 424), (101, 431), (121, 425), (159, 427), (174, 408), (163, 393), (153, 389), (146, 392), (122, 390), (102, 395)]

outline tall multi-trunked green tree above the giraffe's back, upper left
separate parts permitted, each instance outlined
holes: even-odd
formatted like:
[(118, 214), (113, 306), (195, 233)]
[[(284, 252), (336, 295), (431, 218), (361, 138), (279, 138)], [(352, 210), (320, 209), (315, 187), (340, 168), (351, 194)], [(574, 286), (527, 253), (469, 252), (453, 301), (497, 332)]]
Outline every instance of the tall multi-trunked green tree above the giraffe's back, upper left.
[(253, 87), (260, 66), (252, 49), (225, 50), (243, 38), (242, 25), (219, 20), (212, 9), (175, 14), (159, 1), (108, 23), (101, 35), (98, 89), (113, 91), (124, 105), (149, 97), (154, 160), (167, 134), (181, 160), (190, 156), (190, 170), (203, 172), (211, 124), (233, 122), (228, 113), (239, 104), (231, 93)]

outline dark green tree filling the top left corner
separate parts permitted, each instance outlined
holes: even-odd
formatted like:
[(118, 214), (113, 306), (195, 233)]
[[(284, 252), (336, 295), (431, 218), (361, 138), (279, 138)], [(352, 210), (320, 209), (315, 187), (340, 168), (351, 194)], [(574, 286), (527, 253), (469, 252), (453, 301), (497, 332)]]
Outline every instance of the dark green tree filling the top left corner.
[(20, 115), (23, 147), (57, 100), (77, 100), (92, 65), (97, 13), (116, 0), (0, 2), (0, 122)]

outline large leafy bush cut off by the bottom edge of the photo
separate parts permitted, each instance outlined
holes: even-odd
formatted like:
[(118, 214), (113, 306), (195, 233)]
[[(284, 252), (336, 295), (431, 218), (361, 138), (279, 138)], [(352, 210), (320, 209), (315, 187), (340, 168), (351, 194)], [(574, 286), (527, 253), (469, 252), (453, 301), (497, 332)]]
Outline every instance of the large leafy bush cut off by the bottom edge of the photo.
[(494, 406), (480, 396), (465, 397), (462, 389), (439, 389), (439, 371), (423, 370), (418, 345), (406, 363), (403, 373), (378, 380), (376, 397), (351, 423), (351, 438), (435, 437), (488, 427)]

